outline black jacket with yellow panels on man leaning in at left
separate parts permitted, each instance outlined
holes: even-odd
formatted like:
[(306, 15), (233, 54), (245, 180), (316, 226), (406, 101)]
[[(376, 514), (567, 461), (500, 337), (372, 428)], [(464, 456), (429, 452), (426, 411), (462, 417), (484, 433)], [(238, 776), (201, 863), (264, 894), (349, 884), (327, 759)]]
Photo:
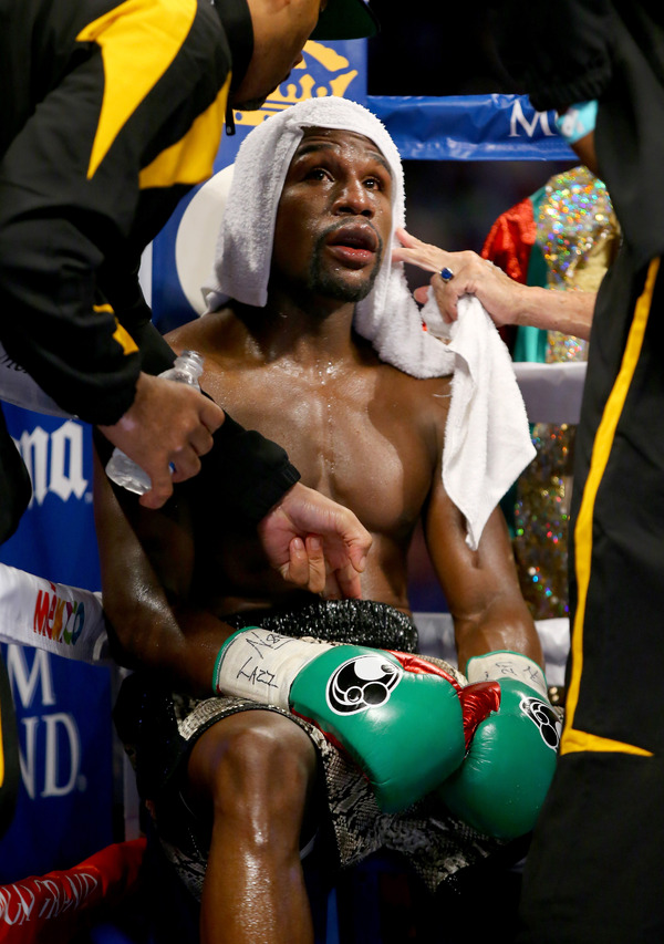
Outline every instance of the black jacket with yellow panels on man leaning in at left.
[[(212, 173), (231, 42), (248, 61), (228, 23), (246, 44), (243, 0), (0, 0), (0, 341), (84, 421), (115, 423), (139, 371), (168, 365), (138, 263)], [(298, 475), (252, 439), (238, 479), (258, 518)], [(253, 479), (260, 507), (245, 495)]]

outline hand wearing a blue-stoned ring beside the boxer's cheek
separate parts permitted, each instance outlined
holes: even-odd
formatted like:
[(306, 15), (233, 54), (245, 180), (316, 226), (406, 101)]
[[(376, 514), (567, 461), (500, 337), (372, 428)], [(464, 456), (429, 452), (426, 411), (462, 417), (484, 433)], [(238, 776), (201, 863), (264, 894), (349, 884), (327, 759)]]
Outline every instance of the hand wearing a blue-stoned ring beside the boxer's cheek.
[[(477, 252), (446, 252), (437, 246), (422, 242), (404, 229), (397, 229), (396, 236), (402, 245), (393, 251), (393, 261), (409, 262), (425, 272), (436, 273), (430, 284), (446, 322), (457, 320), (457, 302), (461, 295), (473, 294), (498, 326), (519, 323), (523, 286), (506, 276), (502, 269), (483, 259)], [(439, 276), (444, 267), (454, 272), (448, 282), (444, 282)], [(415, 299), (421, 304), (426, 301), (427, 291), (427, 286), (415, 290)]]

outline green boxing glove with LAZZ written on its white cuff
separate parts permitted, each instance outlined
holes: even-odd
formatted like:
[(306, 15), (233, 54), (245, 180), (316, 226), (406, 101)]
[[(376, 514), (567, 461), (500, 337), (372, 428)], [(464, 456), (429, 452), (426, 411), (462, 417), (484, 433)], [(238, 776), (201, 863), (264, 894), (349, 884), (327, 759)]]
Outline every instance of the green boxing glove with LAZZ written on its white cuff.
[(416, 802), (464, 759), (463, 689), (418, 656), (249, 627), (221, 647), (212, 687), (313, 723), (364, 771), (384, 812)]

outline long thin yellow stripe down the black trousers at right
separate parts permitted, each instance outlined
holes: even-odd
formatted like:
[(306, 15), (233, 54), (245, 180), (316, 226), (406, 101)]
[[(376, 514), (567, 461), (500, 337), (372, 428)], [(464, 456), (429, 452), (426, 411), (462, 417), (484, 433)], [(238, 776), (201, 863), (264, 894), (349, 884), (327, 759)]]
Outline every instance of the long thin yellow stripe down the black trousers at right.
[(577, 730), (574, 715), (579, 704), (581, 675), (583, 673), (583, 624), (588, 602), (592, 566), (592, 525), (594, 506), (613, 440), (615, 429), (630, 391), (630, 385), (639, 363), (643, 338), (650, 315), (652, 297), (660, 269), (660, 259), (653, 259), (645, 280), (643, 293), (636, 302), (634, 318), (627, 335), (620, 371), (609, 395), (602, 419), (598, 427), (590, 459), (588, 479), (581, 498), (579, 517), (574, 528), (574, 562), (578, 585), (577, 613), (572, 630), (572, 672), (566, 703), (566, 722), (560, 743), (560, 753), (570, 754), (580, 750), (618, 751), (652, 757), (652, 751), (644, 750), (632, 744), (598, 737), (596, 735)]

